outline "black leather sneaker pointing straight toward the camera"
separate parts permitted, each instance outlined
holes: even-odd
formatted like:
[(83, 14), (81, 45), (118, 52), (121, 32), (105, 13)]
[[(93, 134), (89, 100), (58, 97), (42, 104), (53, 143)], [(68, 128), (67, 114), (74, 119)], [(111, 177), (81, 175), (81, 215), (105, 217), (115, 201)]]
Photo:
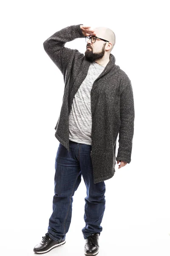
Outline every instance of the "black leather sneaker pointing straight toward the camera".
[(99, 233), (94, 233), (86, 238), (85, 255), (94, 256), (99, 253)]

